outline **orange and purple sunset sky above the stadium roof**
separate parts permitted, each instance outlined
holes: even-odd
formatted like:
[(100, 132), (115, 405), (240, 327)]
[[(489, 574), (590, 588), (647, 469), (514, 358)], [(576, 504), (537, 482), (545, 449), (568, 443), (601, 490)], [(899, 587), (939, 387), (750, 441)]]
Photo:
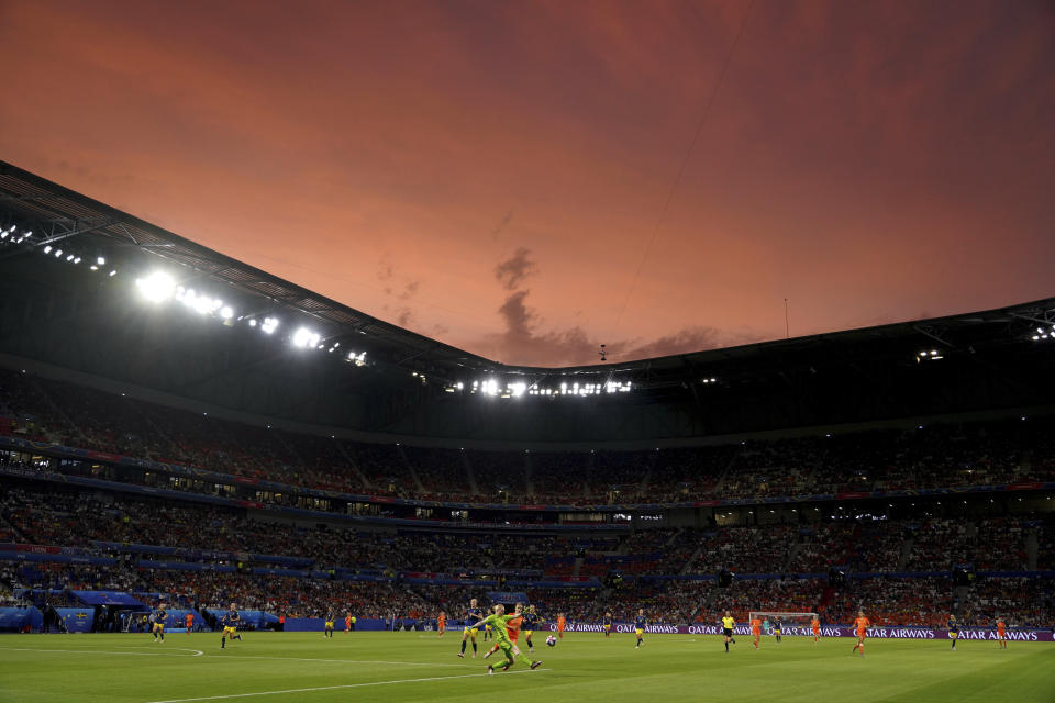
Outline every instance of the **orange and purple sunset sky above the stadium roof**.
[(0, 0), (0, 158), (509, 364), (1055, 294), (1047, 0)]

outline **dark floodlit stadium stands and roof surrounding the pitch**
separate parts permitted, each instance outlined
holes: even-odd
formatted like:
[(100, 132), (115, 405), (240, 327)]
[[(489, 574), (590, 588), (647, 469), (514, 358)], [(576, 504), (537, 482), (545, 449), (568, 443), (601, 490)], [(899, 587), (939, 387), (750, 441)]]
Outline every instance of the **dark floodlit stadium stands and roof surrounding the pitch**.
[(457, 632), (475, 598), (569, 636), (867, 609), (1052, 639), (1055, 299), (510, 367), (12, 165), (0, 191), (5, 631), (145, 640), (165, 603), (197, 643), (233, 601), (273, 638)]

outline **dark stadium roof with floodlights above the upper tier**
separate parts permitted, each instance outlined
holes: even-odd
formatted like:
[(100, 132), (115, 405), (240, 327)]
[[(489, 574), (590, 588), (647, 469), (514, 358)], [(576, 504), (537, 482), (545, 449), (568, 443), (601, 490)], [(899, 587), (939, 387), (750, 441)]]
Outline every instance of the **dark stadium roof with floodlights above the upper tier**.
[[(29, 252), (41, 250), (46, 246), (80, 247), (86, 252), (106, 253), (108, 259), (124, 261), (131, 271), (148, 270), (151, 261), (167, 261), (173, 265), (171, 268), (177, 265), (186, 267), (182, 270), (188, 271), (187, 278), (195, 280), (196, 286), (208, 287), (208, 281), (212, 281), (214, 288), (219, 289), (222, 284), (224, 291), (231, 291), (225, 292), (224, 298), (237, 298), (240, 310), (245, 309), (253, 314), (278, 311), (288, 316), (311, 319), (311, 325), (316, 328), (324, 344), (341, 343), (342, 349), (367, 348), (371, 362), (377, 365), (379, 371), (396, 371), (395, 375), (371, 375), (371, 381), (360, 376), (363, 380), (355, 381), (358, 384), (355, 388), (359, 389), (363, 384), (371, 384), (373, 395), (368, 403), (364, 403), (364, 408), (368, 409), (364, 412), (371, 417), (369, 426), (366, 426), (365, 421), (341, 420), (329, 411), (318, 412), (309, 422), (329, 422), (370, 432), (409, 435), (466, 436), (467, 433), (485, 433), (501, 437), (521, 432), (519, 428), (513, 429), (514, 422), (535, 422), (538, 425), (535, 434), (556, 440), (559, 436), (577, 436), (576, 432), (582, 436), (628, 436), (626, 428), (637, 425), (640, 428), (634, 428), (633, 434), (642, 436), (656, 436), (656, 433), (667, 432), (699, 436), (719, 429), (732, 431), (737, 426), (774, 427), (821, 422), (835, 414), (831, 409), (832, 399), (847, 388), (856, 389), (863, 397), (869, 393), (875, 397), (890, 397), (887, 406), (882, 409), (857, 409), (843, 413), (847, 417), (858, 419), (890, 416), (902, 412), (897, 408), (899, 404), (903, 406), (904, 413), (911, 414), (922, 409), (952, 412), (987, 404), (1012, 406), (1052, 402), (1052, 382), (1035, 379), (1039, 373), (1051, 378), (1055, 337), (1045, 336), (1043, 341), (1033, 341), (1032, 336), (1037, 335), (1037, 328), (1047, 331), (1045, 335), (1051, 334), (1055, 325), (1055, 298), (981, 312), (626, 362), (565, 368), (506, 366), (378, 320), (0, 161), (0, 228), (11, 224), (18, 224), (22, 231), (32, 228), (33, 237), (18, 246), (11, 246), (10, 241), (3, 243), (0, 248), (0, 272), (4, 275), (18, 274), (31, 278), (33, 274), (26, 272), (31, 267), (22, 267), (19, 263), (26, 260), (24, 257)], [(146, 261), (144, 257), (147, 258)], [(40, 284), (38, 290), (47, 290), (51, 281), (55, 280), (47, 276), (41, 274), (40, 281), (33, 281)], [(76, 281), (81, 279), (64, 277), (60, 280), (64, 286), (77, 286)], [(13, 287), (14, 283), (9, 286)], [(20, 323), (21, 320), (20, 317), (12, 324), (25, 324)], [(33, 324), (48, 324), (42, 315), (35, 314), (32, 320)], [(62, 328), (57, 320), (52, 323), (54, 328), (51, 331), (51, 338), (54, 339)], [(130, 328), (126, 333), (119, 334), (125, 336), (123, 342), (127, 344), (137, 342), (132, 336), (135, 333)], [(37, 358), (52, 354), (46, 339), (42, 337), (36, 346), (3, 344), (0, 345), (0, 350)], [(116, 346), (116, 342), (114, 345)], [(928, 354), (921, 357), (922, 352)], [(940, 352), (933, 355), (939, 358), (932, 358), (930, 352)], [(177, 352), (174, 350), (173, 354)], [(76, 360), (76, 357), (67, 355), (63, 358), (56, 356), (41, 360), (69, 366), (71, 359)], [(952, 373), (945, 373), (947, 383), (969, 384), (974, 381), (964, 379), (986, 377), (989, 397), (985, 400), (980, 397), (948, 400), (945, 406), (932, 408), (921, 391), (909, 390), (915, 388), (917, 381), (907, 375), (910, 375), (909, 369), (914, 367), (933, 368), (936, 361), (943, 361), (942, 366), (947, 371), (952, 370), (951, 367), (957, 367), (955, 381)], [(263, 376), (270, 375), (269, 379), (277, 378), (286, 370), (274, 365), (270, 359), (252, 362), (264, 367), (258, 370)], [(268, 364), (273, 365), (267, 366)], [(247, 365), (248, 362), (243, 364)], [(124, 372), (120, 365), (106, 367), (97, 364), (96, 368), (84, 366), (82, 364), (78, 370), (110, 378), (113, 377), (114, 368)], [(901, 376), (896, 379), (888, 376), (893, 372), (891, 369), (900, 369)], [(223, 362), (215, 361), (209, 372), (202, 372), (190, 380), (182, 379), (179, 383), (166, 384), (145, 373), (133, 378), (131, 371), (119, 380), (151, 388), (167, 388), (171, 392), (187, 393), (199, 400), (209, 394), (209, 401), (215, 402), (218, 397), (229, 398), (230, 388), (234, 383), (229, 382), (226, 394), (222, 395), (220, 391), (207, 391), (207, 382), (215, 383), (216, 379), (224, 375), (233, 378), (243, 370), (235, 365), (224, 366)], [(412, 372), (427, 373), (430, 388), (422, 389), (418, 383), (417, 390), (407, 392)], [(244, 376), (248, 379), (248, 375)], [(597, 420), (590, 421), (592, 428), (589, 432), (581, 429), (581, 423), (586, 421), (577, 415), (575, 422), (580, 423), (579, 429), (575, 428), (574, 423), (562, 425), (562, 422), (571, 422), (569, 417), (576, 412), (571, 410), (554, 412), (553, 419), (545, 421), (541, 420), (537, 413), (532, 415), (528, 410), (518, 411), (523, 415), (518, 421), (510, 419), (499, 422), (492, 416), (468, 414), (457, 422), (453, 421), (449, 401), (457, 395), (449, 397), (443, 391), (452, 390), (451, 387), (458, 382), (469, 389), (473, 381), (487, 377), (498, 378), (506, 383), (523, 382), (528, 388), (557, 388), (565, 382), (570, 387), (574, 382), (597, 384), (615, 381), (631, 383), (634, 392), (619, 393), (618, 403), (607, 403), (607, 399), (600, 401), (606, 402), (608, 409), (615, 405), (628, 409), (625, 412), (620, 411), (623, 417), (622, 426), (613, 422), (610, 429), (602, 427)], [(259, 375), (256, 377), (257, 383), (260, 378)], [(417, 383), (418, 378), (413, 381)], [(900, 395), (890, 390), (897, 383), (904, 388)], [(819, 390), (821, 384), (824, 384), (823, 393)], [(333, 404), (347, 404), (348, 401), (342, 401), (341, 394), (349, 390), (354, 388), (334, 384), (333, 377), (320, 377), (311, 393), (315, 398), (327, 395)], [(995, 395), (998, 391), (999, 398)], [(304, 393), (307, 395), (308, 391)], [(402, 394), (398, 402), (389, 403), (391, 408), (387, 412), (376, 412), (380, 399), (391, 400), (397, 393)], [(947, 392), (943, 393), (949, 395)], [(754, 399), (755, 405), (752, 405), (748, 399)], [(230, 405), (237, 406), (240, 402), (242, 401), (231, 400)], [(549, 405), (540, 399), (534, 402)], [(578, 401), (568, 402), (575, 404)], [(873, 402), (871, 398), (869, 402)], [(524, 406), (533, 403), (523, 403)], [(657, 411), (653, 413), (654, 417), (643, 419), (647, 414), (641, 410), (643, 405), (662, 405), (667, 414), (660, 417)], [(775, 416), (776, 411), (768, 411), (774, 415), (768, 420), (757, 416), (758, 409), (777, 405), (781, 406), (781, 419)], [(638, 410), (631, 410), (634, 406)], [(738, 414), (740, 420), (732, 420), (731, 412)], [(286, 414), (293, 414), (293, 411)], [(632, 420), (635, 417), (636, 420)], [(488, 423), (497, 424), (491, 431), (480, 429)], [(680, 424), (680, 428), (671, 429), (674, 424)]]

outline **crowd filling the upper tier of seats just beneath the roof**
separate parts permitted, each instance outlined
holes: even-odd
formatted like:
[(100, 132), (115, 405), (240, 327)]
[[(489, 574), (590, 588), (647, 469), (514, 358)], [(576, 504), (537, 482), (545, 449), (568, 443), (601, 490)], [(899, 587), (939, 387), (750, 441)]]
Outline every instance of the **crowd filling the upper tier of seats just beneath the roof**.
[(458, 502), (697, 501), (1055, 478), (1055, 422), (1044, 417), (648, 451), (459, 451), (296, 434), (0, 370), (0, 419), (2, 433), (75, 447)]

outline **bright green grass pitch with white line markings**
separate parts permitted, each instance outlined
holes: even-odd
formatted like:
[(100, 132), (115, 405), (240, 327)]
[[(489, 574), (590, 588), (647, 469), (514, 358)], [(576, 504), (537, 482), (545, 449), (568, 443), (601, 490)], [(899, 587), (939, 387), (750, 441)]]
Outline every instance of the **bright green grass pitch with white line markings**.
[[(458, 659), (460, 634), (248, 633), (220, 650), (215, 634), (0, 636), (0, 701), (1055, 701), (1055, 645), (746, 637), (726, 655), (720, 637), (568, 634), (538, 637), (536, 671), (486, 676)], [(469, 650), (471, 651), (471, 650)], [(482, 643), (481, 643), (482, 654)], [(495, 660), (489, 659), (489, 661)]]

